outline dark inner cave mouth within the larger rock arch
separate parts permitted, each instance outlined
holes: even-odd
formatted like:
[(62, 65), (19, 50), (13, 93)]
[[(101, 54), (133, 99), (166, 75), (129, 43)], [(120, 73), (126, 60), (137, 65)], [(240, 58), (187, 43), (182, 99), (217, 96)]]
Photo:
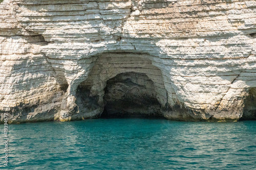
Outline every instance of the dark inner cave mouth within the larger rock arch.
[(163, 117), (154, 82), (146, 74), (124, 72), (104, 88), (101, 118)]

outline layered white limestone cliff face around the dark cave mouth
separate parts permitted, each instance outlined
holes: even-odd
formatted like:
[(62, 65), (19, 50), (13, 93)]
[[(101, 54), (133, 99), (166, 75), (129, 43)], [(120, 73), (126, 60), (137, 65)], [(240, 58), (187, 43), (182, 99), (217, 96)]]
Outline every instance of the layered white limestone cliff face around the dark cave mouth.
[(1, 121), (98, 117), (125, 72), (166, 118), (256, 117), (255, 1), (4, 0), (0, 41)]

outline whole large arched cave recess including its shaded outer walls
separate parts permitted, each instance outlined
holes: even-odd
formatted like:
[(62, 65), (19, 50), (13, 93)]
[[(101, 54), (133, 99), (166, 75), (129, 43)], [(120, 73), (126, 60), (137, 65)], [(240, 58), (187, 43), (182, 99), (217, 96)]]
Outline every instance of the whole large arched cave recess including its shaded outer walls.
[(76, 90), (78, 118), (164, 117), (168, 93), (153, 56), (120, 52), (96, 57)]

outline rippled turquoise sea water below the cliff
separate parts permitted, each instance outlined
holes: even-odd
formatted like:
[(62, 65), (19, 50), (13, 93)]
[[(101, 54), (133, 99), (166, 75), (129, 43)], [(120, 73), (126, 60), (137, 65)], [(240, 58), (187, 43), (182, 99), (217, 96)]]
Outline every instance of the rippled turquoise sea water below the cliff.
[[(2, 131), (4, 126), (0, 125)], [(256, 122), (89, 119), (9, 125), (6, 169), (256, 169)]]

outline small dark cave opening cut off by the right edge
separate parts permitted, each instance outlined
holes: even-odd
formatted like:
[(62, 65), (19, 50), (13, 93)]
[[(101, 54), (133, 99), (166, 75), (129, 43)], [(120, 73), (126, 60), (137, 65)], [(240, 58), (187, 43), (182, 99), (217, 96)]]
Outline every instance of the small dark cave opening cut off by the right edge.
[(244, 100), (244, 112), (241, 119), (256, 119), (256, 87), (250, 88), (248, 91), (248, 96)]

